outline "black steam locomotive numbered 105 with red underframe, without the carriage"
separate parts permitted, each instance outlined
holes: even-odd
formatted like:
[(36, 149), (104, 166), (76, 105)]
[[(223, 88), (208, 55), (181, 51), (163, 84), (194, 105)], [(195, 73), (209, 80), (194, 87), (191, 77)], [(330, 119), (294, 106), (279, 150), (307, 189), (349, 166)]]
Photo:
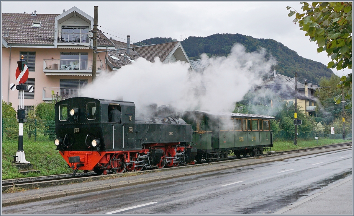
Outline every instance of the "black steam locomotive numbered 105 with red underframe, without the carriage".
[[(115, 106), (120, 122), (110, 122)], [(167, 107), (150, 106), (150, 117), (136, 117), (128, 101), (70, 98), (55, 104), (55, 145), (68, 165), (99, 174), (140, 171), (144, 167), (193, 164), (192, 126), (168, 115)]]

